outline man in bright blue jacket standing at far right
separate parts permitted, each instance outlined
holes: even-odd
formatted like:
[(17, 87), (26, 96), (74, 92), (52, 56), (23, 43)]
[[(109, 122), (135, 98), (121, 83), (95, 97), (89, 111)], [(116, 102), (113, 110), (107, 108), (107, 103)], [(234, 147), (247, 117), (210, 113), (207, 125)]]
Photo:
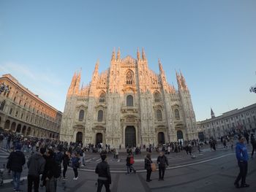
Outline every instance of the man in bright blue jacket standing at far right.
[[(244, 145), (244, 137), (238, 137), (239, 142), (236, 143), (236, 158), (238, 160), (238, 166), (240, 168), (240, 172), (234, 185), (236, 188), (247, 188), (248, 184), (245, 183), (246, 174), (248, 169), (248, 153), (246, 146)], [(242, 180), (241, 180), (242, 179)], [(239, 181), (241, 180), (241, 185), (239, 186)]]

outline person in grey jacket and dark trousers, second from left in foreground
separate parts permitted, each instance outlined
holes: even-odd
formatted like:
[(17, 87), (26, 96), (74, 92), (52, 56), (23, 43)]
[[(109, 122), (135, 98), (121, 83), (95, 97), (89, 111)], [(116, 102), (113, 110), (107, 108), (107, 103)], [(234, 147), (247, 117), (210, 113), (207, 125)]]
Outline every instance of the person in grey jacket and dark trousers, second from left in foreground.
[(40, 152), (36, 152), (29, 158), (27, 166), (29, 168), (28, 173), (28, 192), (32, 191), (32, 185), (34, 184), (34, 192), (38, 192), (40, 178), (39, 175), (44, 172), (45, 158), (42, 155), (45, 154), (45, 148), (40, 148)]

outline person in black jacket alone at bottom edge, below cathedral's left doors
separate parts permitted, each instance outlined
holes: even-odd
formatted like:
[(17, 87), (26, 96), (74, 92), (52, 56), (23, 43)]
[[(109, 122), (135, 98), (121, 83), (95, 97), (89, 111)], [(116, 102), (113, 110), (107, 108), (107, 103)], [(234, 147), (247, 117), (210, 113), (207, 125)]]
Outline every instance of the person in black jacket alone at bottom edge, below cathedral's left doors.
[(98, 180), (97, 180), (97, 192), (102, 191), (102, 186), (105, 185), (106, 192), (110, 192), (110, 184), (111, 184), (111, 174), (110, 174), (110, 167), (108, 165), (108, 162), (105, 161), (107, 158), (107, 155), (101, 154), (100, 157), (102, 158), (102, 162), (97, 164), (95, 173), (98, 174)]

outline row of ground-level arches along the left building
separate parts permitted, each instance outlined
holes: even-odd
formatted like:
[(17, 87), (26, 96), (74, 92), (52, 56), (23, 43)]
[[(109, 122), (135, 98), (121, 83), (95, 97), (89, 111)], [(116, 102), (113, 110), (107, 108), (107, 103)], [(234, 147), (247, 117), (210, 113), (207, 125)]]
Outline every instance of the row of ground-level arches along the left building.
[[(1, 125), (1, 117), (0, 117)], [(11, 122), (10, 120), (5, 120), (4, 130), (12, 131), (18, 134), (23, 134), (23, 136), (33, 136), (33, 137), (47, 137), (47, 138), (58, 138), (58, 135), (45, 130), (38, 130), (31, 128), (31, 126), (22, 125), (21, 123)]]

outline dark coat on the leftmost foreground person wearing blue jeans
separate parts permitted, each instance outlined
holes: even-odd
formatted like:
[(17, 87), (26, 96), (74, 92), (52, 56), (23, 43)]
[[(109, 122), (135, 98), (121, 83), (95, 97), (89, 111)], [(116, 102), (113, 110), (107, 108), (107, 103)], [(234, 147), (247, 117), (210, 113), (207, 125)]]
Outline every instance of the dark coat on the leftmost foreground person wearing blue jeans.
[(26, 163), (25, 155), (20, 151), (13, 151), (7, 162), (7, 169), (12, 172), (22, 172), (22, 166)]

